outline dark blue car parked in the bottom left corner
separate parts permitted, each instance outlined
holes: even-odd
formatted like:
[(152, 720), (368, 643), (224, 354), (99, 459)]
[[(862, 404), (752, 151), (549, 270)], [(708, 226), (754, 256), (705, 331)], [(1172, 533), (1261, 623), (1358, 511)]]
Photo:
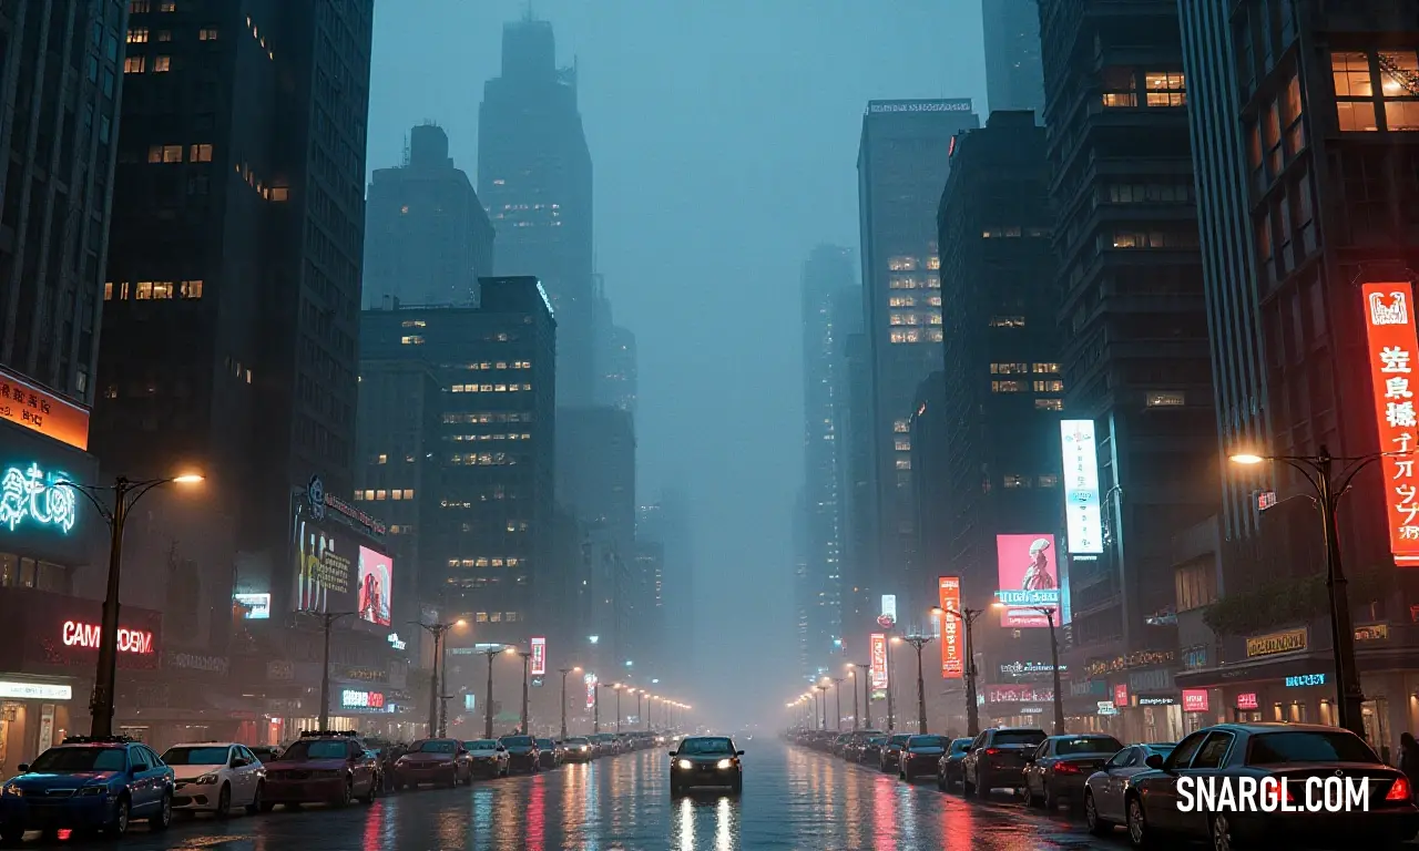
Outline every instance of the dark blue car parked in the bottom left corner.
[(101, 830), (122, 837), (133, 818), (166, 830), (173, 818), (173, 770), (126, 736), (71, 736), (0, 787), (0, 840), (27, 830)]

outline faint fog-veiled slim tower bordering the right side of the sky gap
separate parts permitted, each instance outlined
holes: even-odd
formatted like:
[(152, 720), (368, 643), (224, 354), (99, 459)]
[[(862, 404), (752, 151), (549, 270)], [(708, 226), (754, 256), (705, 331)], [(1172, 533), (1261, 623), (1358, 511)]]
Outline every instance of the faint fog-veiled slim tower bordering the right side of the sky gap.
[[(841, 655), (843, 504), (837, 408), (846, 404), (844, 335), (860, 304), (851, 248), (819, 245), (803, 262), (803, 499), (806, 535), (806, 652), (810, 667)], [(833, 665), (839, 667), (839, 665)]]

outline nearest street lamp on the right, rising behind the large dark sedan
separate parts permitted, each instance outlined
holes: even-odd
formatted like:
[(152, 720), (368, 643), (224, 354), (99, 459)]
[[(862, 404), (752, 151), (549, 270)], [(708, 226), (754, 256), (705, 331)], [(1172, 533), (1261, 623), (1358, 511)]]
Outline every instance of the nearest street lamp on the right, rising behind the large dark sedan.
[[(1335, 521), (1340, 498), (1349, 491), (1349, 482), (1361, 469), (1385, 457), (1413, 455), (1415, 452), (1375, 452), (1354, 458), (1335, 458), (1321, 444), (1317, 455), (1256, 455), (1239, 452), (1232, 455), (1233, 464), (1261, 464), (1280, 461), (1300, 471), (1315, 489), (1315, 506), (1321, 509), (1321, 543), (1325, 546), (1325, 590), (1330, 596), (1331, 645), (1335, 648), (1335, 698), (1340, 709), (1340, 726), (1364, 738), (1365, 722), (1362, 705), (1365, 692), (1359, 685), (1359, 668), (1355, 665), (1355, 627), (1349, 617), (1349, 593), (1347, 591), (1345, 569), (1340, 557), (1340, 529)], [(1344, 467), (1338, 482), (1332, 482), (1332, 467), (1340, 461)]]

